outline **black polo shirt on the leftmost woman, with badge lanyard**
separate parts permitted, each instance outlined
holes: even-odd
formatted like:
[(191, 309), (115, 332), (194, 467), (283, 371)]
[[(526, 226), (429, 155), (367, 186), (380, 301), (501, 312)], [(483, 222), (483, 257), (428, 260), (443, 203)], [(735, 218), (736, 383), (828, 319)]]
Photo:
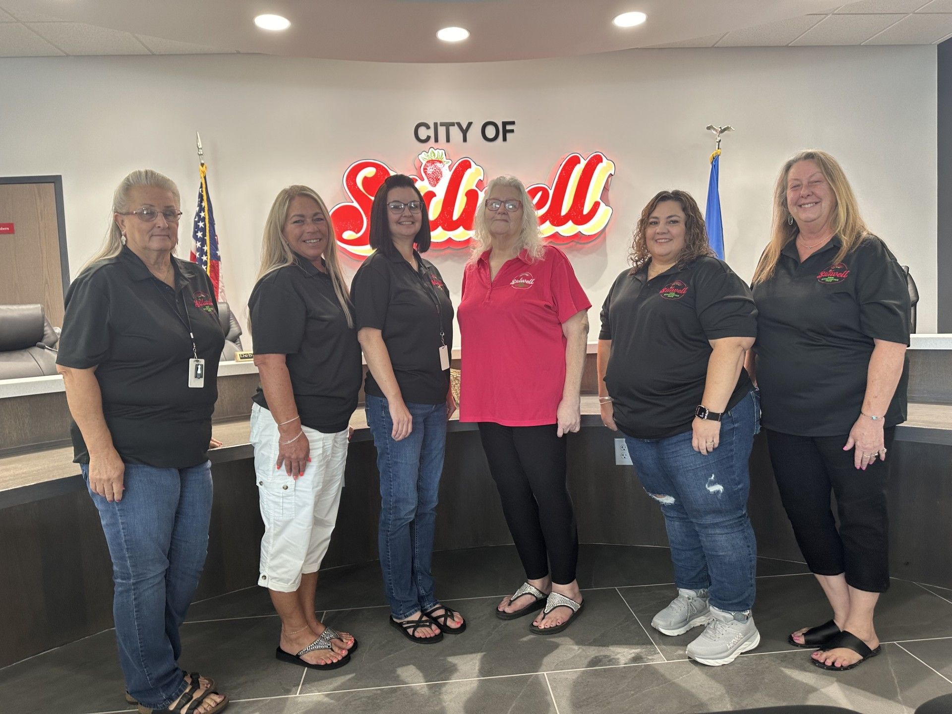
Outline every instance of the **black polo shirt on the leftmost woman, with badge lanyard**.
[[(123, 248), (83, 270), (66, 295), (56, 362), (96, 367), (112, 444), (127, 464), (186, 468), (208, 459), (225, 335), (205, 271), (174, 257), (172, 267), (174, 289)], [(188, 321), (205, 360), (204, 387), (188, 387)], [(70, 435), (73, 461), (89, 464), (75, 422)]]

